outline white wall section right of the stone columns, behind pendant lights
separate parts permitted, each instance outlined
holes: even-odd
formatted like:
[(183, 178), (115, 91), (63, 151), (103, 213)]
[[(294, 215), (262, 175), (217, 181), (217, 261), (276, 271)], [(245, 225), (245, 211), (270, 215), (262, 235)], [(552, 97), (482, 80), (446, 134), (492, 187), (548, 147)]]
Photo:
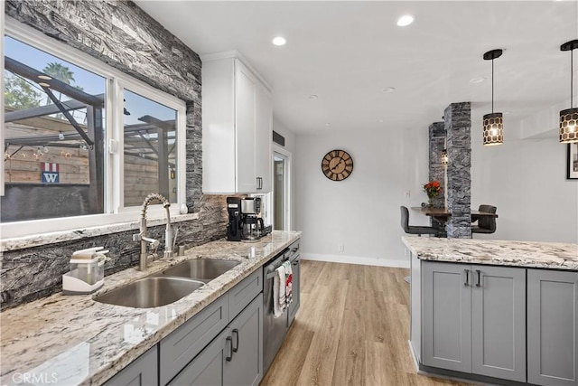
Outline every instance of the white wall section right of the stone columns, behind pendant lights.
[(480, 239), (578, 242), (578, 180), (566, 180), (558, 135), (472, 144), (471, 206), (498, 207), (497, 230)]

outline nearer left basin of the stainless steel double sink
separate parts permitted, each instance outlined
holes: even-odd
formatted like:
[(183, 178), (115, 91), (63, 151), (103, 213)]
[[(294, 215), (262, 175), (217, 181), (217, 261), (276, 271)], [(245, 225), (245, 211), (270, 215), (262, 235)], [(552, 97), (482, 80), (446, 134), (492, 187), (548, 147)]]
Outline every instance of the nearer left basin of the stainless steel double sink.
[(204, 283), (184, 278), (141, 278), (95, 297), (100, 303), (133, 308), (166, 306), (191, 294)]

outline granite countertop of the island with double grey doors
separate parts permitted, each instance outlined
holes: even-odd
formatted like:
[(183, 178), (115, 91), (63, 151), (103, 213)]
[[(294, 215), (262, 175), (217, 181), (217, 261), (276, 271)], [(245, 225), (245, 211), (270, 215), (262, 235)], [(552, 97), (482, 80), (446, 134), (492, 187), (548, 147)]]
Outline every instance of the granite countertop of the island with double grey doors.
[(578, 244), (403, 236), (418, 259), (495, 266), (578, 270)]

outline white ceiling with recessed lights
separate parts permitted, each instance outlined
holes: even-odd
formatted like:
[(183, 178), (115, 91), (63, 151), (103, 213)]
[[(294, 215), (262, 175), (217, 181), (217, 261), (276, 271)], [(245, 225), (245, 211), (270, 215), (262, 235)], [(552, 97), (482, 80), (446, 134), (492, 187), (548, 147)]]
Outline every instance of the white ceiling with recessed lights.
[[(560, 45), (578, 38), (576, 0), (135, 3), (200, 56), (241, 52), (274, 89), (275, 119), (297, 134), (425, 129), (461, 101), (472, 102), (472, 126), (481, 127), (491, 112), (482, 55), (497, 48), (505, 51), (494, 61), (494, 109), (506, 130), (570, 107), (570, 53)], [(415, 23), (398, 27), (402, 14)], [(276, 35), (286, 45), (273, 45)]]

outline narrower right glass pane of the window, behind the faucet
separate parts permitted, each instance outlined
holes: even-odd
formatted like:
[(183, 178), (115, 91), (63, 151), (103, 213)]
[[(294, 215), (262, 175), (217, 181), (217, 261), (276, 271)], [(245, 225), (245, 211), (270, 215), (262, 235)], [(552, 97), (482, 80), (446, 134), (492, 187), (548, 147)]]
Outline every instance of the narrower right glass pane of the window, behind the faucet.
[(177, 111), (125, 89), (125, 206), (149, 193), (177, 202)]

